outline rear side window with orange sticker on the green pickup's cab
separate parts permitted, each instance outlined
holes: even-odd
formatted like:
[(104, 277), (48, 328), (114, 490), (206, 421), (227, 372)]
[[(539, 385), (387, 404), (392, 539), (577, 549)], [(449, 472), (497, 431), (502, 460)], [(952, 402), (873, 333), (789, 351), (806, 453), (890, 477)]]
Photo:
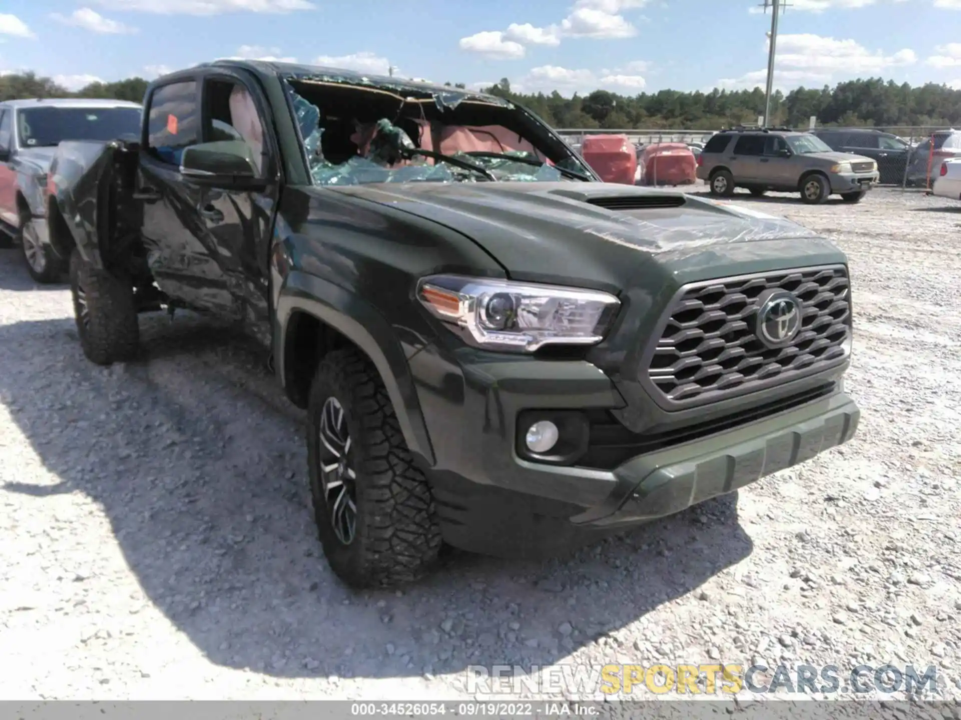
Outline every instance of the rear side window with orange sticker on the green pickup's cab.
[(200, 113), (194, 81), (162, 85), (150, 97), (147, 152), (180, 165), (184, 149), (200, 142)]

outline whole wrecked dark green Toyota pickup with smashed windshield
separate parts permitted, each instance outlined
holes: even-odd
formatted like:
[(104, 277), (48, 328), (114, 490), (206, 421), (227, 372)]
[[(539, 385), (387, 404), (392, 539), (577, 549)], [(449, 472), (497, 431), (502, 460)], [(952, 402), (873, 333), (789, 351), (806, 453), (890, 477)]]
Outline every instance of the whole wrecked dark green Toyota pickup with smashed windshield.
[(64, 143), (51, 241), (86, 356), (185, 307), (272, 350), (354, 586), (442, 541), (542, 555), (850, 439), (844, 253), (605, 184), (503, 98), (283, 63), (160, 78), (138, 142)]

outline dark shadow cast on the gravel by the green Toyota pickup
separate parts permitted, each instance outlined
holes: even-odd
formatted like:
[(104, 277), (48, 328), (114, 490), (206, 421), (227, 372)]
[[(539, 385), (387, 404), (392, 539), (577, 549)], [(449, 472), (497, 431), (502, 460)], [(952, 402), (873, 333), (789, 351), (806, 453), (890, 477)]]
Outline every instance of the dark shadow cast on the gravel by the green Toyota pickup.
[(262, 351), (192, 316), (144, 316), (141, 330), (143, 359), (100, 368), (72, 319), (0, 325), (0, 401), (59, 478), (0, 491), (93, 500), (147, 602), (212, 662), (358, 678), (551, 664), (752, 552), (730, 495), (563, 558), (452, 553), (400, 591), (352, 591), (316, 540), (304, 414)]

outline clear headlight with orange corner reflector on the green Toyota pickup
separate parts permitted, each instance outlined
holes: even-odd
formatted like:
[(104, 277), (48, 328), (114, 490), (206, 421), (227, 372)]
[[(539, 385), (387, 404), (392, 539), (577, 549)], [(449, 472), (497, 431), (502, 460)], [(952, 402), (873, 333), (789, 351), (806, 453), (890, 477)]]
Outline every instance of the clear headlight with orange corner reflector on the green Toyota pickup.
[(424, 277), (417, 298), (480, 346), (526, 352), (600, 343), (621, 304), (594, 290), (464, 276)]

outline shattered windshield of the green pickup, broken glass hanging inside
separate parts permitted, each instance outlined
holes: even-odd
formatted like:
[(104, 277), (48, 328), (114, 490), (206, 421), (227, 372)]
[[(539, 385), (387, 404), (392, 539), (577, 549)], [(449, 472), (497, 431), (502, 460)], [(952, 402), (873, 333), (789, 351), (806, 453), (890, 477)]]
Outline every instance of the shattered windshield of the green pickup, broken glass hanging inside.
[(562, 142), (506, 101), (287, 80), (319, 185), (593, 180)]

